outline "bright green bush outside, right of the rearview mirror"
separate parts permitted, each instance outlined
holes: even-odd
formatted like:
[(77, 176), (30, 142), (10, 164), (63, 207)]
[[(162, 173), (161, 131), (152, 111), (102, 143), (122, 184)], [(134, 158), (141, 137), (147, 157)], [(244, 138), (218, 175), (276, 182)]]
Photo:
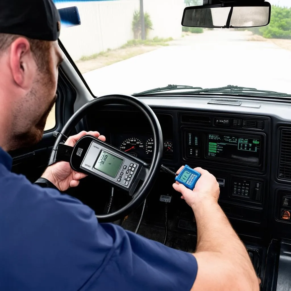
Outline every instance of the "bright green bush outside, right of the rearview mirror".
[(269, 25), (248, 30), (265, 38), (291, 39), (291, 8), (272, 6)]

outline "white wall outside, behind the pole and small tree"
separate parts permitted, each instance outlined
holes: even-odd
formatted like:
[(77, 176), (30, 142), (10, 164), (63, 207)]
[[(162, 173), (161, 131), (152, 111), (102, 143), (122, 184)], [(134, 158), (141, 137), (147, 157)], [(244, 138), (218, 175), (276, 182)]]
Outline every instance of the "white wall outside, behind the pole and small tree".
[[(143, 0), (153, 29), (149, 38), (178, 38), (184, 0)], [(57, 8), (77, 6), (81, 25), (62, 28), (60, 39), (74, 61), (107, 49), (115, 49), (133, 39), (132, 19), (139, 0), (82, 1), (56, 3)]]

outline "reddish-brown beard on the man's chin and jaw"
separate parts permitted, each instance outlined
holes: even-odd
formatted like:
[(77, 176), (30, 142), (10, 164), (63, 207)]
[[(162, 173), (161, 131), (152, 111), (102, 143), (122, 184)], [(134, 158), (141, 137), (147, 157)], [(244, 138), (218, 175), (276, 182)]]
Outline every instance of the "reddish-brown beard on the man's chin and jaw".
[(15, 150), (18, 148), (25, 148), (31, 145), (35, 145), (42, 139), (42, 135), (45, 129), (45, 124), (47, 121), (47, 117), (51, 112), (54, 104), (56, 102), (57, 95), (55, 95), (52, 102), (49, 104), (47, 110), (40, 117), (36, 125), (30, 128), (26, 132), (22, 132), (13, 136), (13, 141), (10, 143), (10, 150)]

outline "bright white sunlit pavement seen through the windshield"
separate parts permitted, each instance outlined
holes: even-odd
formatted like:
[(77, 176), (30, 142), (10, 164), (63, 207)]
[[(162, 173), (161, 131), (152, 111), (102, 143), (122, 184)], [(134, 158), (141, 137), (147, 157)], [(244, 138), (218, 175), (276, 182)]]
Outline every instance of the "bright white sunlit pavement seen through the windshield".
[(83, 74), (96, 96), (133, 94), (168, 84), (238, 85), (291, 94), (291, 51), (252, 41), (248, 31), (218, 29), (185, 36)]

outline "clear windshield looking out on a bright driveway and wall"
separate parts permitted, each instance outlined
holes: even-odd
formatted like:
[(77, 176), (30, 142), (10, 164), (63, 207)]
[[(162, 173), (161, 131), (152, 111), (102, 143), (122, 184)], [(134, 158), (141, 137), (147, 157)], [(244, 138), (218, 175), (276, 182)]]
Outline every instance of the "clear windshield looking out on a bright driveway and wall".
[(55, 0), (57, 8), (79, 10), (81, 25), (62, 28), (60, 39), (95, 96), (132, 95), (169, 84), (291, 94), (291, 2), (270, 0), (271, 21), (265, 27), (182, 27), (184, 8), (202, 2)]

